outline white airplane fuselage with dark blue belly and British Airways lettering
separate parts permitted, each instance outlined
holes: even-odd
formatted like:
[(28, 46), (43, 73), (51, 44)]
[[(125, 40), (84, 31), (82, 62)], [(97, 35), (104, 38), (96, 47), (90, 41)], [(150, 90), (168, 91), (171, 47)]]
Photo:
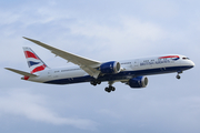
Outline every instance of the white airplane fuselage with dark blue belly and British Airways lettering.
[[(100, 81), (122, 81), (139, 75), (182, 72), (194, 66), (194, 63), (184, 55), (177, 57), (179, 58), (163, 55), (120, 61), (121, 71), (119, 73), (102, 74), (98, 79)], [(38, 75), (37, 78), (29, 78), (28, 80), (52, 84), (70, 84), (93, 80), (92, 76), (79, 66), (46, 69), (36, 74)]]

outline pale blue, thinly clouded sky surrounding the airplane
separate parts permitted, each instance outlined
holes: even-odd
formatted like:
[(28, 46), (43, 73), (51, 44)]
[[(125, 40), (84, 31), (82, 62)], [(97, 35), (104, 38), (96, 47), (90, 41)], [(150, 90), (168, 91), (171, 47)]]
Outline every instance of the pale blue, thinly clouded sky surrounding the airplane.
[[(0, 0), (0, 133), (199, 133), (199, 0)], [(183, 54), (196, 68), (151, 75), (146, 89), (106, 82), (21, 81), (22, 47), (50, 66), (67, 61), (22, 37), (98, 61)]]

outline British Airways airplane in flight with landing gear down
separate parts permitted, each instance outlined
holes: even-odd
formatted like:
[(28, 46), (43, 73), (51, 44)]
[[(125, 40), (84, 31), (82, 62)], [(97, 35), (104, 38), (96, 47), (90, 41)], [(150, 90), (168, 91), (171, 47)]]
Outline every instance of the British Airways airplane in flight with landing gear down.
[(92, 85), (107, 81), (109, 86), (104, 91), (110, 93), (116, 91), (116, 88), (112, 85), (114, 82), (126, 83), (132, 89), (142, 89), (148, 85), (147, 75), (176, 72), (177, 79), (180, 79), (180, 73), (194, 66), (194, 63), (189, 58), (180, 54), (100, 62), (59, 50), (33, 39), (23, 38), (78, 65), (50, 69), (30, 48), (24, 47), (23, 51), (30, 73), (10, 68), (4, 69), (23, 75), (21, 79), (26, 81), (49, 84), (90, 82)]

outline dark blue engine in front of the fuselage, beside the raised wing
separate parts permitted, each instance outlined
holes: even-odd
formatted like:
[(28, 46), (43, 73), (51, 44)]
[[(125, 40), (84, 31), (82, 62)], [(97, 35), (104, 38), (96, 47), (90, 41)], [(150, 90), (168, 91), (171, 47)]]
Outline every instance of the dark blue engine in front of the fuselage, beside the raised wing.
[(113, 74), (120, 72), (120, 63), (117, 61), (106, 62), (100, 65), (100, 71), (104, 74)]

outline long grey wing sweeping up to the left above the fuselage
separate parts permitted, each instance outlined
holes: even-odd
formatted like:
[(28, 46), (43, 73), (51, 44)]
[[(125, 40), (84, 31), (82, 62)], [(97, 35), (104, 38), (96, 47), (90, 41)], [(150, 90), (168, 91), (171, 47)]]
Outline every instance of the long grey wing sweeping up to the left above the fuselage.
[[(24, 37), (23, 37), (24, 38)], [(48, 50), (50, 50), (52, 53), (54, 53), (56, 55), (59, 55), (66, 60), (68, 60), (69, 62), (72, 62), (74, 64), (78, 64), (82, 70), (84, 70), (89, 75), (93, 76), (93, 78), (98, 78), (100, 71), (97, 70), (96, 68), (100, 66), (101, 62), (98, 61), (93, 61), (87, 58), (82, 58), (62, 50), (59, 50), (57, 48), (50, 47), (48, 44), (44, 44), (40, 41), (33, 40), (33, 39), (29, 39), (29, 38), (24, 38), (40, 47), (43, 47)]]

